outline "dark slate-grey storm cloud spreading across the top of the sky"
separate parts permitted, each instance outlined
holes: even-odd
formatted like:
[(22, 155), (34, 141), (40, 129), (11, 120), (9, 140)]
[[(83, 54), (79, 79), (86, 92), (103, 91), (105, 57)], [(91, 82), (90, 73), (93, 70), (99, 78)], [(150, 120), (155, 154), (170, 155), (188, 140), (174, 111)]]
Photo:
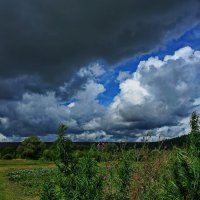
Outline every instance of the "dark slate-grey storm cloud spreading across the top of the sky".
[(91, 60), (116, 63), (195, 24), (199, 10), (197, 0), (1, 1), (0, 76), (58, 81)]

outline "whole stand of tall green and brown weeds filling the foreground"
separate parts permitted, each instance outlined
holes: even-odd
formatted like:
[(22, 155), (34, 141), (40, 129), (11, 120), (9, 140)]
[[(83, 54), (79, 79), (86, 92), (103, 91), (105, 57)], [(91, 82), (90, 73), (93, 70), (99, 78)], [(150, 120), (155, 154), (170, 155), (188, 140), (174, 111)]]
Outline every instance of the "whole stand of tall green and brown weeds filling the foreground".
[[(194, 124), (192, 124), (194, 125)], [(196, 127), (196, 126), (195, 126)], [(43, 187), (42, 200), (200, 200), (200, 132), (184, 148), (125, 149), (93, 146), (78, 159), (59, 128), (58, 174)], [(109, 149), (109, 148), (107, 148)]]

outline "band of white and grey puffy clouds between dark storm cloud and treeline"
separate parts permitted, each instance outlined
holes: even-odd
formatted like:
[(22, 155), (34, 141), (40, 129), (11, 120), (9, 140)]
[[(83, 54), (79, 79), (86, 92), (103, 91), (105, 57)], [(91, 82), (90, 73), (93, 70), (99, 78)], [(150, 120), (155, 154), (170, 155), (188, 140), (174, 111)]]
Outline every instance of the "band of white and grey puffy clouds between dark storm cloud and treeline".
[[(90, 76), (88, 74), (95, 73)], [(98, 76), (100, 65), (78, 72), (86, 76), (82, 88), (62, 102), (55, 92), (24, 93), (22, 100), (1, 101), (0, 132), (6, 136), (55, 134), (59, 123), (69, 126), (74, 140), (139, 140), (147, 131), (163, 138), (188, 133), (189, 116), (200, 111), (200, 51), (177, 50), (162, 60), (141, 61), (136, 72), (120, 72), (120, 92), (103, 106), (98, 96), (105, 92)], [(61, 90), (67, 87), (62, 86)], [(11, 112), (12, 111), (12, 112)], [(3, 138), (3, 135), (1, 136)], [(5, 138), (4, 138), (5, 139)]]

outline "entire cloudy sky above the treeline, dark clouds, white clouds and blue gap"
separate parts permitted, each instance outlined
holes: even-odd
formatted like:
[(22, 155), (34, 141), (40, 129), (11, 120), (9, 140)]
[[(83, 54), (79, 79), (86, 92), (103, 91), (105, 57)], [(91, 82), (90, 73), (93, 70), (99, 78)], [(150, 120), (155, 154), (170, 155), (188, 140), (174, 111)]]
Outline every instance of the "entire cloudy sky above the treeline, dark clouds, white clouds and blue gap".
[(200, 113), (199, 0), (0, 2), (0, 141), (188, 134)]

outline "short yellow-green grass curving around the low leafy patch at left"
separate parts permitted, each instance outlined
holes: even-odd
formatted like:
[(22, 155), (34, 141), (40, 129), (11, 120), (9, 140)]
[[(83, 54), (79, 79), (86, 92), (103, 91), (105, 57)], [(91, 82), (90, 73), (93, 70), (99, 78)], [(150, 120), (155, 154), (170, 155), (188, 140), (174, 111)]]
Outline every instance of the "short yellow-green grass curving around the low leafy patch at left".
[(29, 194), (28, 186), (10, 181), (7, 174), (23, 169), (53, 168), (49, 162), (32, 160), (0, 160), (0, 200), (38, 200), (39, 196)]

